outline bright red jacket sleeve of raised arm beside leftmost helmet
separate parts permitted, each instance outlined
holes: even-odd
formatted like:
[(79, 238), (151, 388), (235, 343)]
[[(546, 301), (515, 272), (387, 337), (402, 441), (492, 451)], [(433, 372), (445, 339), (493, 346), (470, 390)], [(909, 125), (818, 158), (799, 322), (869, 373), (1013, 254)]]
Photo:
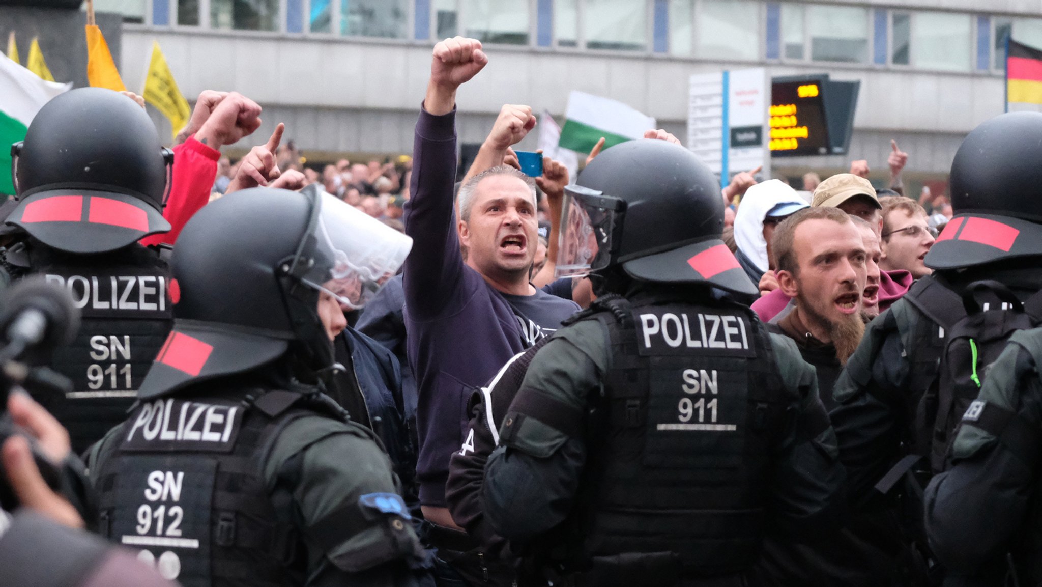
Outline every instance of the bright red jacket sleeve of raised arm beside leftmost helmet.
[(192, 215), (209, 201), (219, 158), (221, 151), (196, 141), (195, 136), (174, 147), (173, 179), (167, 207), (163, 210), (163, 217), (170, 222), (170, 231), (146, 237), (141, 240), (141, 244), (173, 245), (177, 241), (177, 236)]

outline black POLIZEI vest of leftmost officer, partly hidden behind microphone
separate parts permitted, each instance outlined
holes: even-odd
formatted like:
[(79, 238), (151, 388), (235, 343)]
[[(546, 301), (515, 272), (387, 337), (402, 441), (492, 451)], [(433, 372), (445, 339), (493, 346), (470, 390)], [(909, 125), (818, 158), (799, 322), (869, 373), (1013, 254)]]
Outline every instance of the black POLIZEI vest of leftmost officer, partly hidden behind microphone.
[(72, 391), (65, 397), (36, 394), (69, 430), (73, 450), (82, 454), (126, 419), (170, 334), (176, 285), (171, 289), (167, 263), (137, 244), (99, 255), (36, 246), (28, 258), (30, 273), (65, 288), (82, 314), (75, 340), (54, 349), (51, 363), (72, 382)]

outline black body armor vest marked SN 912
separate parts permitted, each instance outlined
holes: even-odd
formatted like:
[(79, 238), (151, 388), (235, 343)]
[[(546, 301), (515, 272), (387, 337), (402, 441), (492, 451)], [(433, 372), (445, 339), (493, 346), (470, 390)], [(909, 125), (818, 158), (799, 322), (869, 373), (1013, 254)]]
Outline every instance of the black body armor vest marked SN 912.
[(141, 406), (101, 447), (100, 534), (184, 587), (302, 585), (306, 553), (292, 508), (269, 497), (265, 463), (290, 422), (346, 413), (297, 392), (257, 395)]

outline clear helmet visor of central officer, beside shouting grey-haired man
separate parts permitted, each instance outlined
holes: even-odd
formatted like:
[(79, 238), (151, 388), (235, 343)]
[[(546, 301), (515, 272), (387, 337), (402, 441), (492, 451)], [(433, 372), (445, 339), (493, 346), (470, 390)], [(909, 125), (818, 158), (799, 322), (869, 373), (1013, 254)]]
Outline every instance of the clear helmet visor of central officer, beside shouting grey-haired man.
[(581, 186), (565, 188), (556, 277), (580, 277), (607, 267), (617, 248), (625, 202)]

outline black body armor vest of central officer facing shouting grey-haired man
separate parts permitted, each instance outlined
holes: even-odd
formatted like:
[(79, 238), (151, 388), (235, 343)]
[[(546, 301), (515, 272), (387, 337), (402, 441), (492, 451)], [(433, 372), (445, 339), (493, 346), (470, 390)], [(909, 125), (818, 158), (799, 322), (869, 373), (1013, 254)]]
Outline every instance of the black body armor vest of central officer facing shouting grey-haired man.
[(614, 303), (588, 318), (607, 328), (612, 363), (569, 524), (578, 567), (641, 554), (635, 568), (661, 585), (746, 571), (794, 422), (770, 336), (736, 303)]

